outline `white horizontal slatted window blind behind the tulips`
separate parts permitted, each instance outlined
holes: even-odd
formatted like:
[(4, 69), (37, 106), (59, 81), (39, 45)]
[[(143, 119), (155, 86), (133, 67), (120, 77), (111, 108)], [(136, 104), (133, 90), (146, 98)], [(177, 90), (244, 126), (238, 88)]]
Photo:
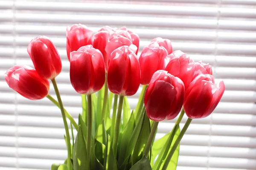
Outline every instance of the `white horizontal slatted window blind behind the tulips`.
[[(81, 98), (70, 85), (66, 26), (82, 23), (95, 32), (127, 26), (139, 34), (140, 51), (155, 37), (168, 38), (174, 50), (209, 62), (226, 85), (214, 113), (192, 121), (177, 170), (256, 170), (256, 0), (44, 1), (0, 0), (0, 75), (15, 64), (32, 66), (29, 41), (50, 37), (63, 62), (57, 82), (64, 106), (77, 119)], [(131, 108), (138, 95), (129, 98)], [(161, 122), (157, 138), (175, 121)], [(23, 98), (0, 76), (0, 170), (50, 169), (62, 162), (62, 124), (51, 102)]]

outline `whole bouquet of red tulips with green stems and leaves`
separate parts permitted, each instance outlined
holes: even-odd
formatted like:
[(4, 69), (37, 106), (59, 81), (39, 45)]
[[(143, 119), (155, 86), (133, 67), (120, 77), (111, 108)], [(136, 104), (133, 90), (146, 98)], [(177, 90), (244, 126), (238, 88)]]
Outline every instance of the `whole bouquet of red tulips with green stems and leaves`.
[[(36, 37), (28, 45), (35, 69), (15, 65), (6, 72), (7, 84), (17, 93), (31, 100), (47, 97), (61, 110), (67, 159), (52, 164), (52, 170), (176, 169), (180, 140), (192, 119), (212, 113), (224, 82), (215, 85), (209, 64), (172, 51), (168, 39), (153, 39), (137, 57), (139, 42), (125, 27), (105, 26), (96, 34), (81, 24), (67, 28), (70, 82), (82, 99), (78, 122), (61, 101), (55, 81), (61, 58), (48, 37)], [(48, 93), (49, 80), (57, 100)], [(136, 110), (131, 111), (127, 96), (140, 85)], [(170, 132), (154, 140), (158, 123), (179, 113)], [(180, 130), (185, 113), (188, 119)]]

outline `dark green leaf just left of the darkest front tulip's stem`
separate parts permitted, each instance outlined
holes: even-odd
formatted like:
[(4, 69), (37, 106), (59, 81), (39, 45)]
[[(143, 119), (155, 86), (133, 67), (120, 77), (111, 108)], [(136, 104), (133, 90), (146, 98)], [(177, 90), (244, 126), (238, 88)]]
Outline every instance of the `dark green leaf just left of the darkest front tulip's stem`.
[[(145, 148), (146, 143), (148, 142), (148, 137), (150, 134), (150, 122), (149, 122), (148, 116), (146, 114), (144, 116), (145, 116), (145, 119), (143, 121), (143, 126), (140, 131), (136, 145), (134, 147), (132, 164), (135, 164), (137, 161), (139, 161), (143, 157), (143, 150)], [(132, 139), (132, 140), (135, 140), (135, 139)]]

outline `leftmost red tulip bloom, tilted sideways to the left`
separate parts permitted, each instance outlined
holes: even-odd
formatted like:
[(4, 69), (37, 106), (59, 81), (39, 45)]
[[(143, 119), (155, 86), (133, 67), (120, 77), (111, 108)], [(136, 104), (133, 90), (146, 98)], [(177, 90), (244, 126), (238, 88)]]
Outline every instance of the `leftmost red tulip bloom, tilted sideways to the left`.
[(39, 76), (35, 69), (15, 65), (4, 74), (10, 88), (30, 100), (43, 99), (49, 92), (49, 81)]

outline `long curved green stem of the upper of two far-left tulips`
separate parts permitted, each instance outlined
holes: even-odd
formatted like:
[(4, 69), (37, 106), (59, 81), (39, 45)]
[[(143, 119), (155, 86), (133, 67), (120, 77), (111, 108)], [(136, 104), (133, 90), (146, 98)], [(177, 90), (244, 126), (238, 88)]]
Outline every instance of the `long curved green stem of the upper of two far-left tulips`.
[(68, 170), (71, 170), (70, 134), (69, 134), (69, 128), (68, 128), (68, 125), (67, 125), (65, 110), (64, 110), (64, 107), (63, 107), (63, 103), (62, 103), (62, 100), (61, 100), (61, 95), (60, 95), (60, 92), (58, 91), (58, 86), (57, 86), (57, 83), (56, 83), (55, 79), (52, 79), (52, 85), (54, 87), (54, 90), (55, 90), (55, 93), (56, 93), (56, 96), (57, 96), (57, 99), (58, 99), (58, 103), (60, 105), (61, 115), (62, 115), (62, 118), (63, 118), (63, 123), (64, 123), (65, 131), (66, 131), (66, 136), (67, 136), (67, 168), (68, 168)]

